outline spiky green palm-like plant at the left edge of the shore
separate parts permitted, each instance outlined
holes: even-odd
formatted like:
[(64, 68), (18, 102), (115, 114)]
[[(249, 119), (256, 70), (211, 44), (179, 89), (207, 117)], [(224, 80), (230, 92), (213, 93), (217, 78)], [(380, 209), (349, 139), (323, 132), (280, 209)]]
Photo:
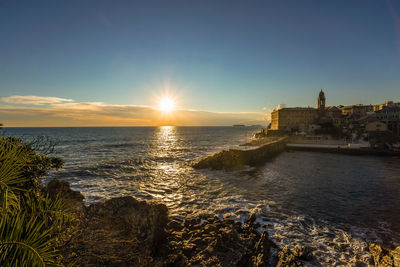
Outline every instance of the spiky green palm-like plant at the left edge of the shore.
[(55, 247), (73, 216), (40, 190), (40, 176), (60, 166), (17, 138), (0, 137), (0, 266), (58, 266)]

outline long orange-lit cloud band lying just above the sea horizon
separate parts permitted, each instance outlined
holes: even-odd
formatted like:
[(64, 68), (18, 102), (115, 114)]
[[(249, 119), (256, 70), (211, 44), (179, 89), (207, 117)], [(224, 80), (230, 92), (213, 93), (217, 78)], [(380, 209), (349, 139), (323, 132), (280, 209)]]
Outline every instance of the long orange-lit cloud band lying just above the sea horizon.
[[(31, 98), (31, 96), (27, 97)], [(19, 99), (25, 99), (20, 97)], [(48, 98), (62, 99), (62, 98)], [(212, 112), (174, 110), (162, 112), (150, 106), (110, 105), (102, 102), (46, 102), (48, 106), (0, 106), (5, 126), (223, 126), (265, 125), (265, 112)], [(10, 102), (9, 102), (10, 103)], [(17, 102), (21, 103), (21, 102)], [(36, 102), (37, 103), (37, 102)], [(44, 103), (41, 101), (40, 103)]]

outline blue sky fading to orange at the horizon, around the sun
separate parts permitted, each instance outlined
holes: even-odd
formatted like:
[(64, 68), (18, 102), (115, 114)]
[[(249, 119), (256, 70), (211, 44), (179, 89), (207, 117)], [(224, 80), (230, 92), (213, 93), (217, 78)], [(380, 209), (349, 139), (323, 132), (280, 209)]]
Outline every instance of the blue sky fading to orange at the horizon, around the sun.
[(6, 126), (264, 124), (321, 88), (378, 104), (399, 85), (400, 1), (0, 0)]

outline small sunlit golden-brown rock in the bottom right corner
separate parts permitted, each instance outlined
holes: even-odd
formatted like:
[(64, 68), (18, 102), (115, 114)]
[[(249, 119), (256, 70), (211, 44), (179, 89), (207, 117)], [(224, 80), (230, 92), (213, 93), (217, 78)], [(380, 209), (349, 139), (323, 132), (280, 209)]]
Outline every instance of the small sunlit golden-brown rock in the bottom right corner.
[(378, 244), (370, 244), (369, 252), (377, 267), (400, 267), (400, 247), (393, 250), (383, 249)]

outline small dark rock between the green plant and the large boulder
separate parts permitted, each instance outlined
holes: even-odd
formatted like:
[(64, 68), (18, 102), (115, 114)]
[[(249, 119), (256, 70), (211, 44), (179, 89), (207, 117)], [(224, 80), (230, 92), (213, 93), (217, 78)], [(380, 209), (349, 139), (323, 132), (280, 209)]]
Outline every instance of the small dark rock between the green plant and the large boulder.
[(43, 191), (50, 197), (61, 197), (65, 200), (67, 207), (72, 210), (82, 211), (84, 208), (84, 196), (81, 192), (72, 190), (67, 181), (53, 179), (43, 188)]

